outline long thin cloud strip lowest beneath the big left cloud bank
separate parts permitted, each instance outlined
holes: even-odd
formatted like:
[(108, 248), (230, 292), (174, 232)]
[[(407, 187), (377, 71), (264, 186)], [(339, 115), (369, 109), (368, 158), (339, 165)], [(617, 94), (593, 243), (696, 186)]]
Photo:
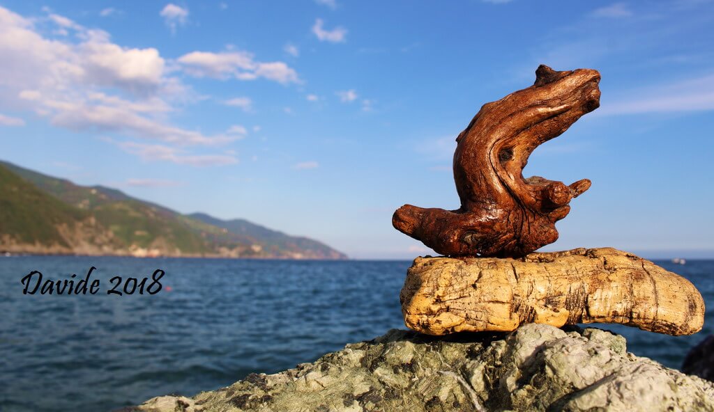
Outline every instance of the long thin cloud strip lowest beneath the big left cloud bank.
[(203, 166), (223, 166), (238, 163), (233, 155), (185, 155), (183, 150), (165, 145), (147, 145), (136, 142), (112, 142), (116, 143), (126, 153), (137, 155), (140, 158), (154, 162), (162, 160), (176, 163), (178, 165)]

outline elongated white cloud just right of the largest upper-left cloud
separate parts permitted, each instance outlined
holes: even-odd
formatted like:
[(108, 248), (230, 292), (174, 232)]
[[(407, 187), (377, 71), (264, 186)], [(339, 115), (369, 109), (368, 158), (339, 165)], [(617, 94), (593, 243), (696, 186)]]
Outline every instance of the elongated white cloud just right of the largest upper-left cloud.
[(298, 73), (282, 61), (262, 63), (246, 51), (211, 53), (193, 51), (178, 58), (183, 70), (191, 76), (255, 80), (262, 77), (278, 83), (299, 83)]

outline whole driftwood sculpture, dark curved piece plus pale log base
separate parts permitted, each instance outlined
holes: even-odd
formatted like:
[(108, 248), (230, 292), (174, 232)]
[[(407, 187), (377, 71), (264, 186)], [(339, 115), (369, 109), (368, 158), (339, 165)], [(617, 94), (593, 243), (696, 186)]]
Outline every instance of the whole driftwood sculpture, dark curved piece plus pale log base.
[(535, 84), (486, 103), (456, 138), (458, 210), (400, 207), (392, 223), (447, 257), (418, 257), (401, 292), (408, 327), (426, 334), (513, 331), (535, 322), (608, 322), (693, 334), (704, 301), (687, 279), (615, 249), (531, 253), (590, 180), (523, 178), (528, 156), (600, 105), (600, 74), (540, 66)]

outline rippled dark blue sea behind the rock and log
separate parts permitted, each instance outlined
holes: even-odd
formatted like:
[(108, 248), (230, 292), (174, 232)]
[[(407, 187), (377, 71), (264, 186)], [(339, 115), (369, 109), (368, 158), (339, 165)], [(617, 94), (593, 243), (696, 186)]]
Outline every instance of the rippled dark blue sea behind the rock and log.
[[(655, 263), (702, 292), (710, 308), (703, 331), (601, 327), (625, 336), (635, 355), (679, 368), (714, 332), (714, 260)], [(399, 291), (410, 264), (0, 257), (0, 411), (116, 411), (315, 361), (404, 328)], [(35, 271), (42, 283), (67, 280), (86, 294), (24, 294), (36, 286)]]

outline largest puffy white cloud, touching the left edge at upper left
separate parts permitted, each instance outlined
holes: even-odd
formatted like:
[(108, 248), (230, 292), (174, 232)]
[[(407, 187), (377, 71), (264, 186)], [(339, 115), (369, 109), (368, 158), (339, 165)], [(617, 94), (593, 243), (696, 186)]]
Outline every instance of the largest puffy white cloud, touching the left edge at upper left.
[(111, 43), (104, 31), (84, 29), (54, 15), (59, 27), (74, 27), (80, 43), (44, 38), (24, 19), (0, 8), (0, 84), (9, 88), (70, 89), (116, 86), (134, 93), (156, 90), (165, 77), (164, 59), (155, 48), (126, 48)]

